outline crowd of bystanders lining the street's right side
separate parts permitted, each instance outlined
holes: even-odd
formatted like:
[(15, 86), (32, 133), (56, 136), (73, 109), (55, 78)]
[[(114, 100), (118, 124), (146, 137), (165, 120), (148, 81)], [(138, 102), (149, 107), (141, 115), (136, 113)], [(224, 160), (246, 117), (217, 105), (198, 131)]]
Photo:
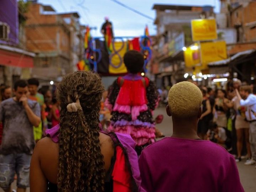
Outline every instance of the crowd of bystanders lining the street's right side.
[(238, 79), (226, 89), (199, 86), (203, 95), (203, 114), (198, 122), (198, 135), (211, 140), (236, 155), (236, 162), (246, 158), (245, 165), (254, 165), (255, 140), (253, 112), (256, 96), (253, 87)]

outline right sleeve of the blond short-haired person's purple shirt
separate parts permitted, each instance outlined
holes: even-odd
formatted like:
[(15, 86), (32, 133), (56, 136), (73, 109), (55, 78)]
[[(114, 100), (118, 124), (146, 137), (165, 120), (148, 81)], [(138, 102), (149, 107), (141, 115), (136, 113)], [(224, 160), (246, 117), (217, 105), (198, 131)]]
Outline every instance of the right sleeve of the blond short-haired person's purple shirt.
[(233, 156), (230, 156), (230, 166), (228, 167), (227, 174), (220, 191), (244, 192), (244, 188), (240, 182), (238, 168)]

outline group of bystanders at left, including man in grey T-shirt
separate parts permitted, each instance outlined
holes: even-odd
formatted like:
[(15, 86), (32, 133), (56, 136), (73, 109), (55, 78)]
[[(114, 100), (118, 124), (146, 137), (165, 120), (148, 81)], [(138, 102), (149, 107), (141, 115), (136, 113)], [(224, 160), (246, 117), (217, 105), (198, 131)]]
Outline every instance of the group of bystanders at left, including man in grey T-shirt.
[(45, 131), (59, 124), (59, 105), (50, 90), (38, 92), (37, 79), (18, 80), (12, 90), (0, 86), (0, 186), (10, 192), (17, 179), (17, 191), (29, 186), (31, 155)]

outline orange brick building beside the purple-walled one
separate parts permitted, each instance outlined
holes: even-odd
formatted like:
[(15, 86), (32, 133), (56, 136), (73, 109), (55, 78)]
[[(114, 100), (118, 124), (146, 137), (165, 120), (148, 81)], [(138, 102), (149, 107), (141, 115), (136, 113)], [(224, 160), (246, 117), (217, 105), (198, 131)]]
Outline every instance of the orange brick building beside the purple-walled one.
[(74, 71), (82, 57), (78, 13), (58, 14), (51, 6), (31, 3), (26, 17), (26, 47), (36, 53), (32, 76), (58, 81)]

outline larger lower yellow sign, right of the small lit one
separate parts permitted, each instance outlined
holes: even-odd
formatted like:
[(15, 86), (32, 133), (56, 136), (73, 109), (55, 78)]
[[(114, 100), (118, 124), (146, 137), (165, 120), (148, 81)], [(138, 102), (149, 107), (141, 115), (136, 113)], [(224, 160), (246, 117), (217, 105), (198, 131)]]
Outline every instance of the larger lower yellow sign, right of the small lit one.
[(226, 42), (204, 42), (201, 43), (201, 63), (203, 67), (207, 67), (210, 62), (215, 62), (227, 58)]

